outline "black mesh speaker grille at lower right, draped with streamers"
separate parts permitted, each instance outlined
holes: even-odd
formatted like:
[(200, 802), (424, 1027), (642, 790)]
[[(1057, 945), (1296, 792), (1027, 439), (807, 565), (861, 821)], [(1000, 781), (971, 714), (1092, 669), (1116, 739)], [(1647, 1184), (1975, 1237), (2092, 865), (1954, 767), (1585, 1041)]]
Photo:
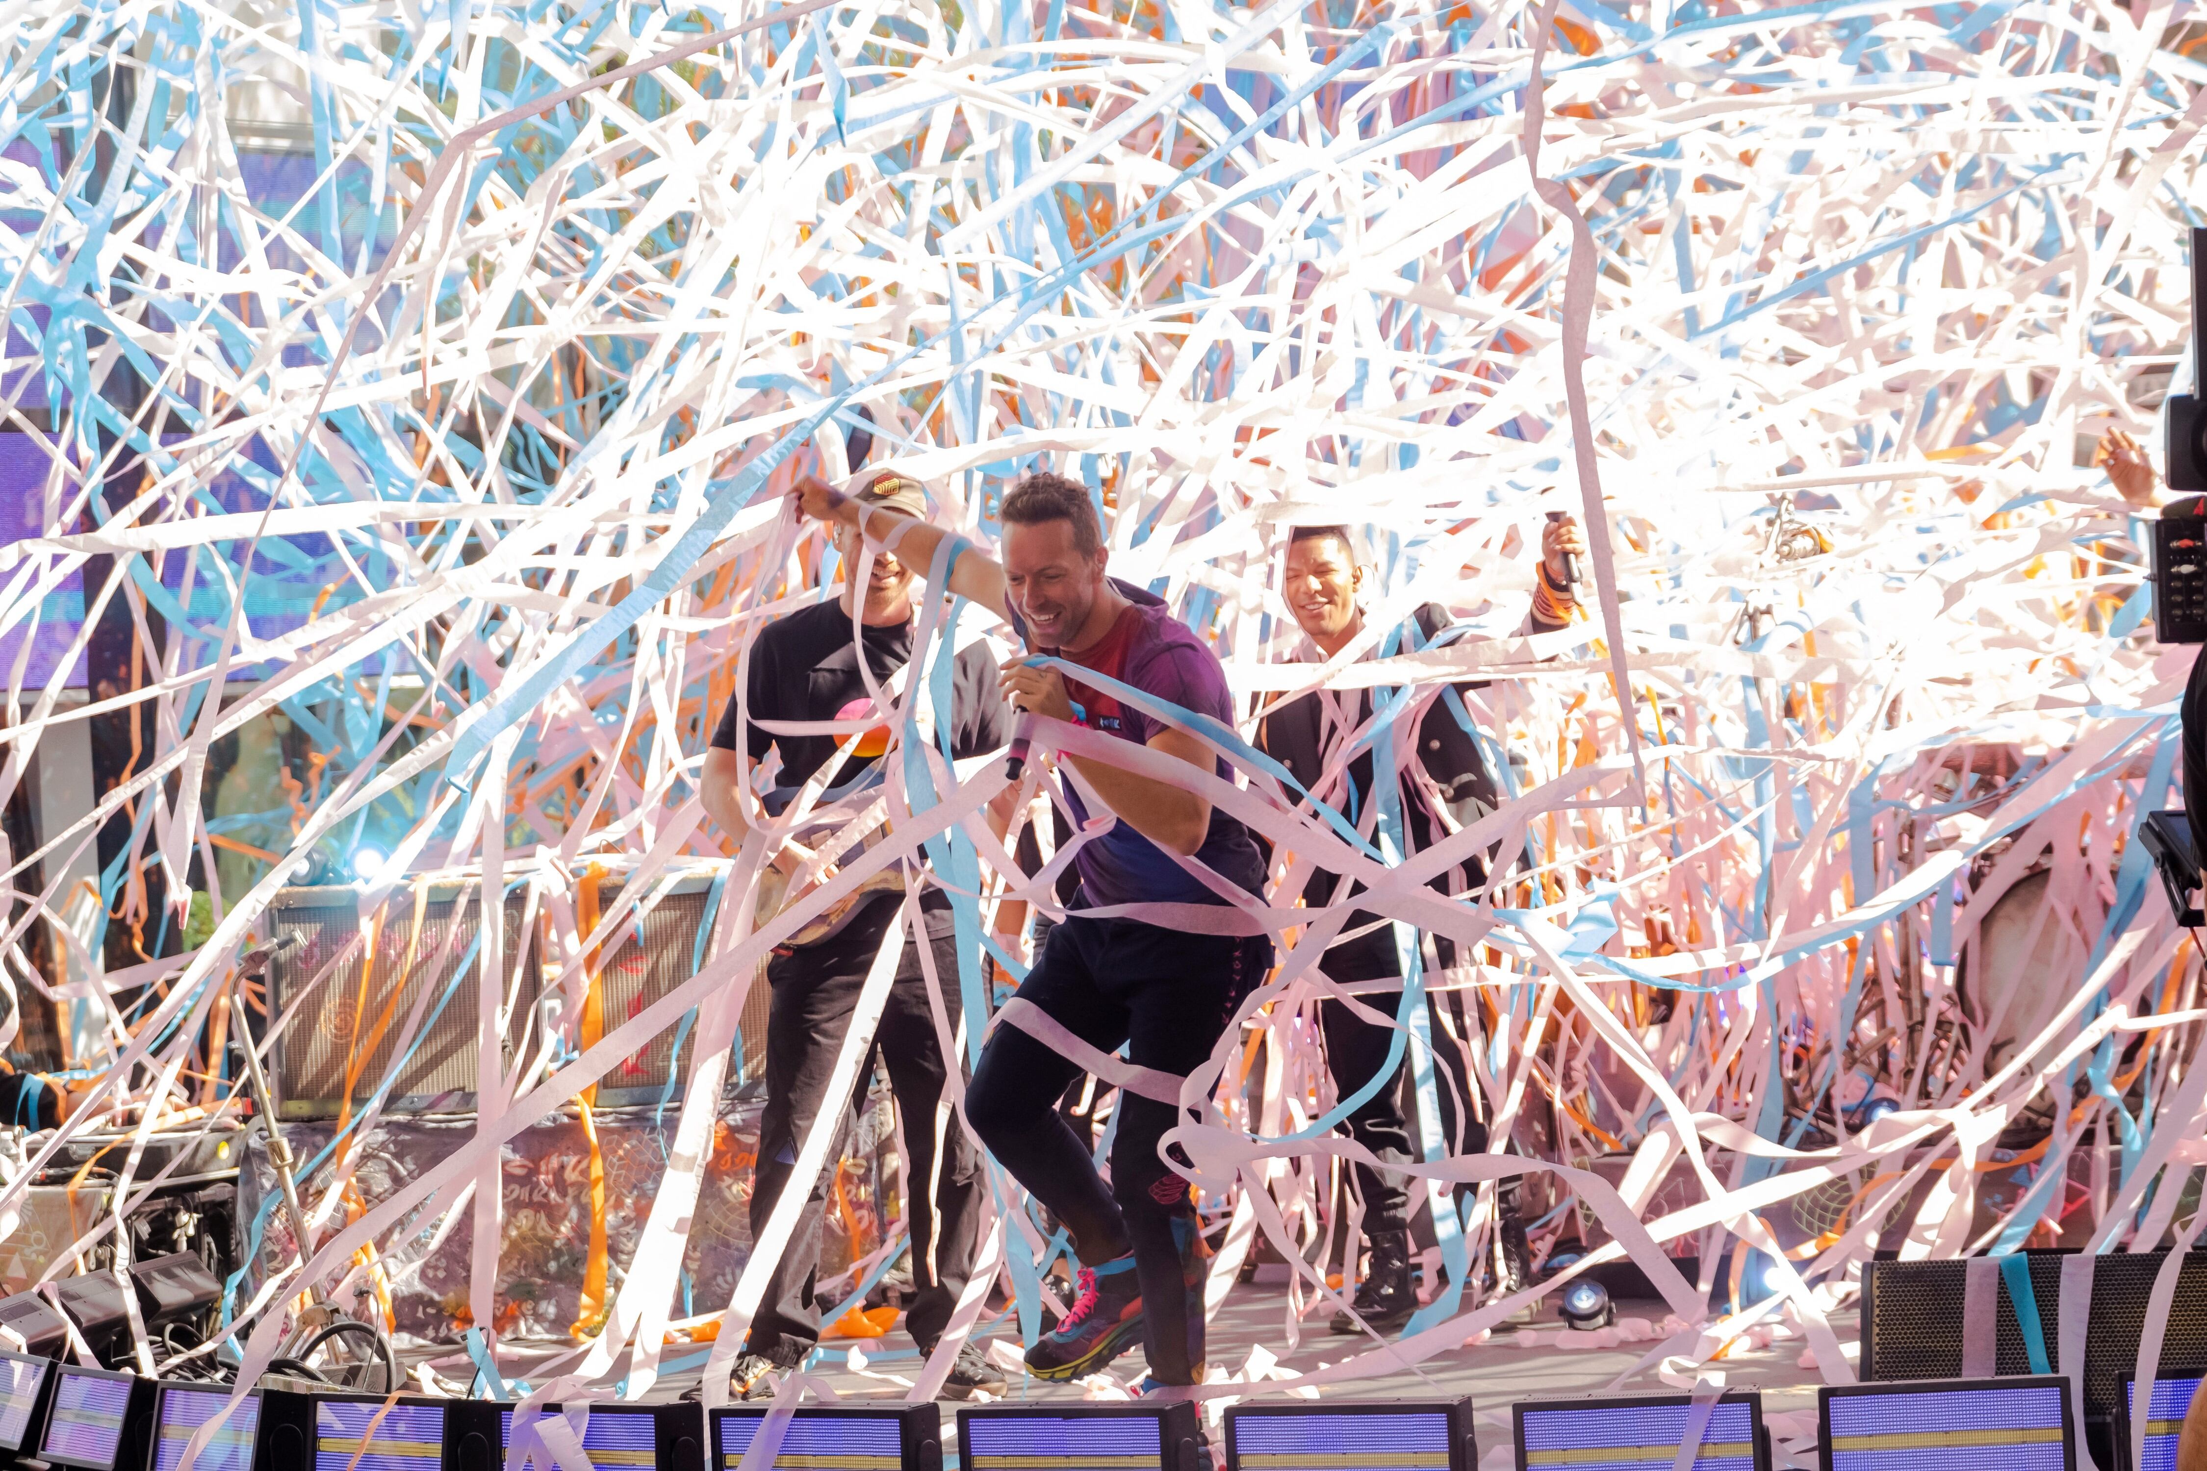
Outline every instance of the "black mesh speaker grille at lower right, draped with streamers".
[[(2039, 1330), (2055, 1372), (2061, 1365), (2061, 1259), (2035, 1250), (2030, 1290), (2039, 1299)], [(2083, 1347), (2088, 1416), (2114, 1414), (2123, 1374), (2136, 1372), (2139, 1336), (2163, 1250), (2101, 1257), (2092, 1266), (2092, 1319)], [(1863, 1266), (1863, 1378), (1955, 1378), (1962, 1374), (1962, 1264), (1867, 1261)], [(2161, 1339), (2163, 1372), (2207, 1367), (2207, 1253), (2185, 1257)], [(2015, 1303), (2000, 1292), (1997, 1372), (2028, 1374), (2030, 1352), (2015, 1319)]]

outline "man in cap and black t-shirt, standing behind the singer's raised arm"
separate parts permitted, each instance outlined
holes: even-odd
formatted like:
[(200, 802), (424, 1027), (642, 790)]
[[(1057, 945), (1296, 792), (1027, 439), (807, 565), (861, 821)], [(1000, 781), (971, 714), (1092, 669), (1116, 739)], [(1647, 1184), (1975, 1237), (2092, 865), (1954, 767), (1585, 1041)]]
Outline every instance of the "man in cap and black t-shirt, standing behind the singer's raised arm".
[[(905, 479), (885, 476), (865, 498), (914, 516), (927, 514), (920, 487)], [(852, 587), (863, 558), (859, 536), (839, 534), (836, 549), (843, 554), (843, 595), (777, 618), (757, 633), (744, 688), (728, 701), (713, 732), (713, 750), (704, 763), (704, 807), (722, 831), (737, 840), (750, 831), (750, 801), (761, 801), (768, 814), (779, 816), (799, 801), (803, 787), (814, 783), (845, 741), (852, 745), (850, 754), (828, 774), (812, 801), (814, 812), (841, 803), (836, 809), (841, 816), (825, 818), (821, 836), (847, 827), (850, 818), (874, 801), (872, 792), (881, 785), (889, 726), (865, 688), (859, 648), (861, 644), (865, 648), (865, 673), (883, 690), (883, 699), (889, 699), (889, 684), (911, 657), (918, 580), (896, 556), (874, 551), (865, 567), (861, 602)], [(854, 602), (859, 602), (856, 637)], [(951, 688), (951, 754), (962, 761), (1004, 745), (1011, 710), (998, 690), (995, 659), (987, 644), (971, 644), (953, 655)], [(925, 712), (931, 701), (920, 692), (911, 708)], [(878, 723), (856, 726), (870, 719)], [(819, 721), (841, 721), (859, 734), (852, 739), (852, 730), (841, 734), (786, 730), (790, 723)], [(746, 761), (739, 752), (748, 752), (750, 763), (757, 763), (770, 750), (781, 752), (781, 770), (775, 787), (753, 798), (744, 785)], [(832, 878), (834, 858), (836, 853), (819, 853), (797, 840), (783, 842), (770, 858), (775, 871), (788, 880), (779, 906), (797, 902)], [(900, 887), (900, 865), (892, 865), (883, 882)], [(960, 957), (949, 895), (929, 887), (920, 895), (920, 913), (945, 1008), (956, 1017)], [(828, 915), (792, 935), (766, 966), (772, 1008), (766, 1021), (766, 1116), (759, 1120), (759, 1162), (750, 1195), (753, 1233), (766, 1228), (766, 1217), (797, 1162), (803, 1131), (819, 1109), (843, 1109), (843, 1129), (850, 1127), (854, 1100), (828, 1098), (828, 1081), (865, 973), (894, 922), (898, 922), (896, 891), (867, 884), (847, 904), (832, 906)], [(934, 1352), (973, 1270), (987, 1187), (973, 1142), (956, 1112), (945, 1107), (947, 1067), (916, 946), (907, 946), (898, 964), (874, 1034), (874, 1056), (887, 1063), (909, 1153), (911, 1198), (905, 1202), (905, 1224), (911, 1233), (911, 1281), (918, 1297), (907, 1314), (907, 1328), (925, 1352)], [(859, 1072), (859, 1098), (865, 1096), (872, 1072), (870, 1059)], [(832, 1171), (821, 1171), (812, 1182), (803, 1215), (750, 1321), (750, 1336), (731, 1376), (737, 1394), (746, 1398), (770, 1392), (772, 1376), (803, 1363), (819, 1343), (814, 1275), (830, 1178)], [(1002, 1394), (1004, 1376), (967, 1345), (958, 1352), (942, 1387), (958, 1398), (969, 1398), (975, 1389)]]

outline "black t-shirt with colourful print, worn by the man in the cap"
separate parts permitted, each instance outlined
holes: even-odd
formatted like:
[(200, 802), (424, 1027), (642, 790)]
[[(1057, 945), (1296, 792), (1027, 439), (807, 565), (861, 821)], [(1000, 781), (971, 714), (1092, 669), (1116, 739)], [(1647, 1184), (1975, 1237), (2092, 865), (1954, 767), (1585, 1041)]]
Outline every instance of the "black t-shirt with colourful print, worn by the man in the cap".
[[(887, 684), (911, 659), (911, 624), (889, 629), (865, 626), (865, 664), (874, 684)], [(907, 697), (927, 699), (927, 690), (907, 690)], [(859, 646), (850, 637), (850, 609), (841, 602), (819, 602), (810, 609), (777, 618), (759, 629), (750, 648), (748, 688), (737, 690), (722, 710), (713, 730), (713, 745), (735, 750), (735, 723), (742, 710), (753, 723), (748, 728), (750, 759), (759, 761), (768, 750), (781, 748), (781, 772), (766, 805), (779, 812), (797, 790), (812, 781), (812, 774), (834, 756), (847, 737), (834, 734), (775, 734), (757, 721), (834, 721), (859, 719), (872, 712), (865, 681), (859, 677)], [(951, 657), (951, 756), (984, 756), (1011, 739), (1011, 706), (998, 688), (995, 659), (987, 644), (969, 644)], [(821, 805), (847, 792), (852, 783), (876, 774), (881, 754), (887, 750), (887, 726), (859, 739), (852, 756), (843, 763), (821, 794)], [(856, 924), (874, 926), (878, 935), (889, 926), (896, 895), (876, 898)], [(949, 933), (951, 902), (940, 889), (929, 887), (920, 895), (931, 935)]]

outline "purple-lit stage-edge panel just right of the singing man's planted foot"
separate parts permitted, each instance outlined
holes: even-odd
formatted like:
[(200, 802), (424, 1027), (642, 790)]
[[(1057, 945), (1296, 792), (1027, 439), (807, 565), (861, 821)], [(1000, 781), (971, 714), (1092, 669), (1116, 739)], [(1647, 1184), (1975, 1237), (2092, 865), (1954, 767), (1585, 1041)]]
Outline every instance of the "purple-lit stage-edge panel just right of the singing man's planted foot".
[(1227, 1405), (1227, 1471), (1479, 1471), (1472, 1400)]

